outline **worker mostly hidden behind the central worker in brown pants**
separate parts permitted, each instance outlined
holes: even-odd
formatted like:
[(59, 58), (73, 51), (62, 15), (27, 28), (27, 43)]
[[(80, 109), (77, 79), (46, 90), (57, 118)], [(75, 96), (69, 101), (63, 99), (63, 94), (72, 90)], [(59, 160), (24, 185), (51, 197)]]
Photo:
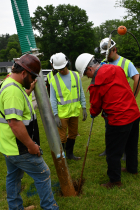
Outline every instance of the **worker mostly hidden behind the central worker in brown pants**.
[(49, 97), (50, 97), (50, 83), (51, 83), (51, 79), (58, 72), (57, 70), (53, 69), (53, 64), (52, 63), (53, 63), (53, 55), (50, 57), (50, 64), (52, 66), (52, 71), (47, 74), (47, 81), (46, 81), (46, 86), (47, 86), (47, 91), (48, 91)]

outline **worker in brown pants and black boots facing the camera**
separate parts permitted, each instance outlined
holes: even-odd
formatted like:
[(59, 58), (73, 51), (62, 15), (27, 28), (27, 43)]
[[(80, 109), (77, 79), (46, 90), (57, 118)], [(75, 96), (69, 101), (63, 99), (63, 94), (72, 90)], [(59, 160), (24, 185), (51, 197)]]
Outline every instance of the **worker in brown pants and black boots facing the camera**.
[[(50, 102), (58, 127), (60, 139), (68, 159), (80, 160), (73, 154), (78, 133), (78, 117), (83, 108), (83, 121), (87, 118), (85, 95), (78, 72), (68, 69), (68, 58), (63, 53), (53, 56), (53, 68), (58, 73), (51, 80)], [(68, 136), (67, 136), (68, 128)]]

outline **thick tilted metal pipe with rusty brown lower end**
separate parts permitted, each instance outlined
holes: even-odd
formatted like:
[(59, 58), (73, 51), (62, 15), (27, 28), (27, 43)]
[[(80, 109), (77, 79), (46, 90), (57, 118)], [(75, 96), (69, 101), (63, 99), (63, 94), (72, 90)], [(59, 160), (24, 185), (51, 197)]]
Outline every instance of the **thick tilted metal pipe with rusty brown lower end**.
[(60, 187), (64, 196), (75, 196), (76, 192), (68, 170), (65, 154), (59, 137), (58, 129), (52, 113), (49, 96), (46, 90), (44, 77), (40, 72), (35, 85), (35, 96), (47, 136), (53, 161), (55, 164)]

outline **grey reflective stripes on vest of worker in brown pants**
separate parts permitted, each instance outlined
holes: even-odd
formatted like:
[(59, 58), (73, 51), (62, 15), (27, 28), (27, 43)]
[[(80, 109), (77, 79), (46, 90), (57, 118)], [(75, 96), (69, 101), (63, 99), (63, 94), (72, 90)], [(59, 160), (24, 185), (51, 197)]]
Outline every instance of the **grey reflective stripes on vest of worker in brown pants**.
[(63, 98), (63, 95), (62, 95), (62, 91), (61, 91), (61, 88), (60, 88), (60, 83), (59, 83), (59, 80), (58, 80), (58, 77), (57, 75), (54, 76), (54, 79), (55, 79), (55, 82), (56, 82), (56, 85), (57, 85), (57, 90), (58, 90), (58, 94), (59, 94), (59, 98), (60, 98), (60, 102), (57, 101), (57, 103), (59, 105), (65, 105), (65, 104), (70, 104), (70, 103), (73, 103), (73, 102), (78, 102), (80, 101), (80, 95), (79, 95), (79, 86), (78, 86), (78, 76), (75, 72), (72, 72), (74, 77), (75, 77), (75, 80), (76, 80), (76, 86), (77, 86), (77, 98), (73, 99), (73, 100), (67, 100), (67, 101), (64, 101), (64, 98)]

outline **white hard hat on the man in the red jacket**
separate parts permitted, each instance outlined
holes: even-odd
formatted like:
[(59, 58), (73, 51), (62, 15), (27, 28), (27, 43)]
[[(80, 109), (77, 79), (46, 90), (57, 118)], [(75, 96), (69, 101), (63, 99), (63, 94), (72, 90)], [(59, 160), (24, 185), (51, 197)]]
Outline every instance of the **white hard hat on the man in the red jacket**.
[(81, 77), (83, 76), (84, 71), (92, 58), (94, 58), (94, 55), (89, 53), (82, 53), (77, 57), (75, 61), (75, 68), (80, 73)]

